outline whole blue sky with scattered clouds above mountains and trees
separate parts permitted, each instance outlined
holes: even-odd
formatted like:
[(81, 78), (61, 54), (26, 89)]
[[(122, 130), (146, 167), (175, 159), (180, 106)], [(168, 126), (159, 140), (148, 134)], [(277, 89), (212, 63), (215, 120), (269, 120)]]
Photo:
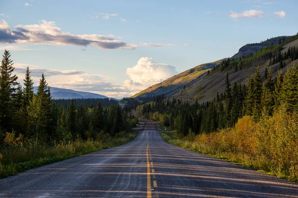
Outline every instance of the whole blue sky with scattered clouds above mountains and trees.
[(130, 97), (196, 65), (298, 33), (297, 0), (0, 0), (22, 83)]

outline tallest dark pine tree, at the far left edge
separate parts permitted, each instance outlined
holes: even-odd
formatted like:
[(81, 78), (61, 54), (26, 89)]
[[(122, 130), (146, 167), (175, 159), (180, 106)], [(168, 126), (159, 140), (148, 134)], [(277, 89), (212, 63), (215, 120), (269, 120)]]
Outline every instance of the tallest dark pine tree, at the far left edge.
[[(0, 66), (0, 128), (4, 131), (10, 131), (11, 128), (11, 95), (16, 90), (15, 86), (17, 76), (12, 75), (14, 71), (13, 61), (10, 59), (10, 52), (4, 50), (3, 58)], [(2, 131), (2, 130), (0, 130)], [(0, 134), (3, 136), (3, 134)]]

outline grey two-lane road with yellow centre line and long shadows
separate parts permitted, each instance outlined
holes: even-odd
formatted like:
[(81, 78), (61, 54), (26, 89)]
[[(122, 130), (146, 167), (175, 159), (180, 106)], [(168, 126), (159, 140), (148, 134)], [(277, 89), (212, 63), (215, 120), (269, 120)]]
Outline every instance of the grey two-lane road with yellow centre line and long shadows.
[(134, 141), (0, 180), (0, 197), (298, 198), (298, 184), (167, 144), (144, 121)]

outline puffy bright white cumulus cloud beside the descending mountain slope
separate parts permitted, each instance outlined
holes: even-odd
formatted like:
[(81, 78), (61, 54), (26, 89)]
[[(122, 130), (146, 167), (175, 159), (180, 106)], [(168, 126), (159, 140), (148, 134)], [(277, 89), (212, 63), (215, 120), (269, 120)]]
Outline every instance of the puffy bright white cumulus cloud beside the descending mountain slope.
[(134, 94), (176, 75), (176, 67), (165, 63), (156, 63), (149, 57), (142, 57), (138, 63), (129, 67), (126, 74), (130, 79), (124, 81), (124, 86)]

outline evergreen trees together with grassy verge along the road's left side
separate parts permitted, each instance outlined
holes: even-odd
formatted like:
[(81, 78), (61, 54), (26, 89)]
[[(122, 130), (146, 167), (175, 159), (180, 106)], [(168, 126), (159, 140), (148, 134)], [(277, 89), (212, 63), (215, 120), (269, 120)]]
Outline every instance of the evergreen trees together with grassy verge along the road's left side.
[(44, 74), (34, 94), (29, 68), (22, 87), (10, 56), (0, 65), (0, 178), (135, 137), (138, 118), (115, 100), (52, 100)]

